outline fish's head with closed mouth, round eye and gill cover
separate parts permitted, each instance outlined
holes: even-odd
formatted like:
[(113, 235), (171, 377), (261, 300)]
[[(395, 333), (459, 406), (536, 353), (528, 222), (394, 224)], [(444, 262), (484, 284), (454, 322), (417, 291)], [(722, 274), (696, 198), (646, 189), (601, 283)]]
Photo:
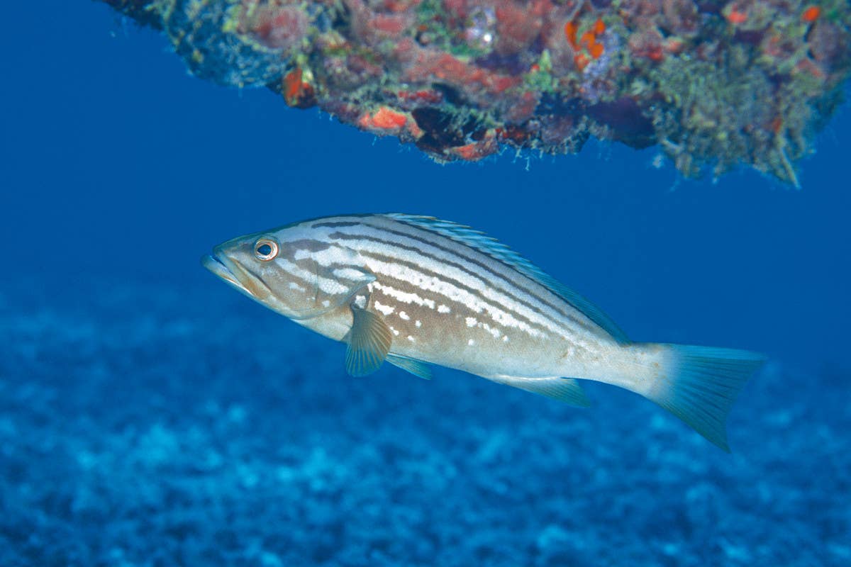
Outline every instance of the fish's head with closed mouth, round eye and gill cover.
[(223, 242), (201, 264), (237, 291), (295, 320), (337, 309), (375, 280), (357, 252), (317, 241), (298, 226)]

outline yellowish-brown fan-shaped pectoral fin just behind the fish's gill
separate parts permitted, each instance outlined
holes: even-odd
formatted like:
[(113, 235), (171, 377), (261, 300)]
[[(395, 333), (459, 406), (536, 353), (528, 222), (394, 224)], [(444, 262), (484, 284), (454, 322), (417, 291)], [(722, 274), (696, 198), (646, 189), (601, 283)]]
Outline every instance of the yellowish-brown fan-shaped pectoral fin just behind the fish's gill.
[(381, 367), (390, 352), (393, 335), (381, 316), (356, 305), (351, 306), (351, 331), (346, 336), (346, 371), (366, 376)]

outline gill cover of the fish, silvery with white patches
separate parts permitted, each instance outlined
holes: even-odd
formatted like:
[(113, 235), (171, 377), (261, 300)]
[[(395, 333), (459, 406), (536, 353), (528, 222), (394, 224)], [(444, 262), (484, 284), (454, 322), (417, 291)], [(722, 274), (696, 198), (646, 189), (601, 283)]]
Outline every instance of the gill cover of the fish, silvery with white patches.
[(334, 247), (334, 262), (320, 264), (316, 258), (301, 258), (299, 264), (311, 273), (311, 289), (304, 309), (293, 309), (292, 319), (311, 319), (346, 304), (368, 284), (375, 275), (363, 268), (363, 258), (349, 248)]

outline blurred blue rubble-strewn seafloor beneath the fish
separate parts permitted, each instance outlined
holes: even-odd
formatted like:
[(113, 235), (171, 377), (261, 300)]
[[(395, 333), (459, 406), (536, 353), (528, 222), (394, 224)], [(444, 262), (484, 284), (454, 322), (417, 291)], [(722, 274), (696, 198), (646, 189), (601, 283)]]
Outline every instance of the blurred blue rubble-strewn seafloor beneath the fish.
[(851, 564), (841, 372), (769, 364), (727, 455), (615, 388), (346, 377), (224, 286), (35, 283), (0, 287), (4, 567)]

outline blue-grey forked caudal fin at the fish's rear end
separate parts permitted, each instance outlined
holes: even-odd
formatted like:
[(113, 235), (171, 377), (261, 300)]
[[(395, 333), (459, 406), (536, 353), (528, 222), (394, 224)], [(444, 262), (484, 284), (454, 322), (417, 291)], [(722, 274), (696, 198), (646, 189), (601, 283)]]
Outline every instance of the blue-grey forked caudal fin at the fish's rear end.
[(729, 452), (727, 414), (748, 378), (762, 366), (761, 354), (679, 344), (647, 345), (659, 349), (665, 370), (654, 380), (648, 399), (671, 411), (695, 431)]

